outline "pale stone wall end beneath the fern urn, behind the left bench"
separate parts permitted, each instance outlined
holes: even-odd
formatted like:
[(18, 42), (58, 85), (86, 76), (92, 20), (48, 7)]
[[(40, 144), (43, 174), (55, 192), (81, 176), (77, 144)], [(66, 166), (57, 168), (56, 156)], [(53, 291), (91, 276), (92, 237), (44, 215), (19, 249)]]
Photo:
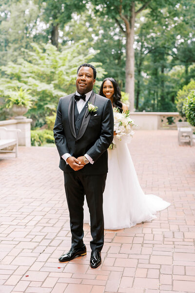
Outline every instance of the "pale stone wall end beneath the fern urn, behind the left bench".
[(8, 129), (20, 129), (19, 133), (19, 146), (31, 146), (31, 122), (32, 119), (10, 119), (0, 121), (0, 126)]

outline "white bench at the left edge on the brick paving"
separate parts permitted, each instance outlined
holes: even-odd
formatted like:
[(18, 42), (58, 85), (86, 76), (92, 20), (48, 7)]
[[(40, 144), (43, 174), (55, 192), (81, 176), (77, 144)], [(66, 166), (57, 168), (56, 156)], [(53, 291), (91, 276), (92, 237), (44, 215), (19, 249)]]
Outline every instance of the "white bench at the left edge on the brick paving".
[[(13, 152), (18, 156), (18, 132), (20, 129), (0, 127), (0, 152)], [(15, 147), (15, 150), (14, 150)]]

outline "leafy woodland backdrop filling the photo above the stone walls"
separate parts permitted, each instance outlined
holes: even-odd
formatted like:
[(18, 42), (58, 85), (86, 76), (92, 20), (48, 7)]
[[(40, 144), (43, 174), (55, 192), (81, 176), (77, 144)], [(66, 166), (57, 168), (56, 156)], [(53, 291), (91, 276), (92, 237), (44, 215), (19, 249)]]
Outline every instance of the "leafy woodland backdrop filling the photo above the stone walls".
[(99, 81), (114, 77), (136, 110), (175, 111), (195, 79), (194, 14), (193, 0), (1, 0), (0, 103), (8, 84), (30, 89), (28, 115), (44, 121), (87, 61), (101, 63)]

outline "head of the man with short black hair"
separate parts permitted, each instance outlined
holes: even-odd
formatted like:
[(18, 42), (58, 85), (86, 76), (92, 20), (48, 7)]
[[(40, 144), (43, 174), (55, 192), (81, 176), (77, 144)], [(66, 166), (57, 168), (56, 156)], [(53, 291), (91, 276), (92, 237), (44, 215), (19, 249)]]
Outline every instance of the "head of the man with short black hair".
[(78, 70), (76, 79), (77, 91), (80, 95), (90, 92), (95, 84), (93, 69), (91, 67), (83, 66)]

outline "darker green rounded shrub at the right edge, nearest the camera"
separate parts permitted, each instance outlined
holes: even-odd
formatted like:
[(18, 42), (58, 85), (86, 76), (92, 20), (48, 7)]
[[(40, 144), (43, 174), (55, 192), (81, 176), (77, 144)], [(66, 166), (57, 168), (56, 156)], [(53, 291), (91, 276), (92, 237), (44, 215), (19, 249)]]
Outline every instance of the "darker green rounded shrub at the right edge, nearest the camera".
[(185, 112), (187, 121), (195, 126), (195, 90), (192, 90), (183, 104), (183, 111)]

